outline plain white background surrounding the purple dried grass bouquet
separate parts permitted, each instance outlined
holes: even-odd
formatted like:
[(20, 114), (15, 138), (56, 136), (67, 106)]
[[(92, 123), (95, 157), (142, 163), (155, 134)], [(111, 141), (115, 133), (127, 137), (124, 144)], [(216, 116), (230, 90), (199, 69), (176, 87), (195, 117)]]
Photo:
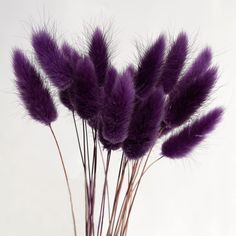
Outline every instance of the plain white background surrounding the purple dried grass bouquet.
[[(68, 195), (52, 137), (25, 115), (13, 83), (12, 48), (21, 47), (30, 55), (31, 27), (43, 24), (54, 25), (59, 39), (80, 46), (85, 28), (110, 27), (113, 62), (120, 69), (135, 60), (136, 41), (145, 45), (161, 32), (171, 40), (186, 31), (191, 56), (206, 45), (212, 47), (220, 78), (211, 101), (224, 105), (224, 120), (188, 159), (163, 159), (149, 172), (129, 235), (236, 235), (235, 11), (233, 0), (0, 0), (0, 235), (72, 235)], [(59, 109), (55, 130), (63, 143), (80, 219), (80, 162), (71, 117)], [(158, 154), (157, 148), (153, 157)]]

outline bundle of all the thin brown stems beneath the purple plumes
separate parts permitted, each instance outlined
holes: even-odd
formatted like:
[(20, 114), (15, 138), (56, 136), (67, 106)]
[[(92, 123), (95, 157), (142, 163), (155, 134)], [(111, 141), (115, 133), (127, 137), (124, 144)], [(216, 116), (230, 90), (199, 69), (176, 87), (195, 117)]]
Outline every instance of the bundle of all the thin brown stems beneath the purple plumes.
[[(68, 173), (63, 160), (55, 132), (50, 125), (58, 148), (68, 188), (70, 207), (73, 220), (74, 236), (78, 235), (77, 227), (84, 227), (86, 236), (125, 236), (127, 235), (129, 219), (141, 180), (147, 170), (162, 158), (151, 162), (149, 153), (138, 160), (129, 160), (124, 152), (121, 154), (120, 164), (117, 166), (115, 186), (109, 185), (109, 167), (112, 162), (112, 150), (102, 150), (96, 128), (88, 126), (87, 121), (82, 120), (82, 135), (80, 135), (76, 116), (72, 112), (74, 129), (78, 144), (78, 152), (81, 158), (84, 172), (85, 194), (85, 223), (84, 226), (76, 220), (74, 199), (69, 183)], [(89, 137), (91, 135), (91, 137)], [(92, 143), (91, 143), (92, 142)], [(92, 150), (91, 150), (92, 149)], [(105, 155), (104, 155), (105, 154)], [(102, 185), (97, 186), (97, 167), (101, 161), (104, 169)], [(111, 191), (114, 187), (113, 192)], [(101, 194), (101, 196), (96, 196)], [(95, 201), (100, 199), (100, 202)], [(98, 212), (96, 212), (98, 211)]]

